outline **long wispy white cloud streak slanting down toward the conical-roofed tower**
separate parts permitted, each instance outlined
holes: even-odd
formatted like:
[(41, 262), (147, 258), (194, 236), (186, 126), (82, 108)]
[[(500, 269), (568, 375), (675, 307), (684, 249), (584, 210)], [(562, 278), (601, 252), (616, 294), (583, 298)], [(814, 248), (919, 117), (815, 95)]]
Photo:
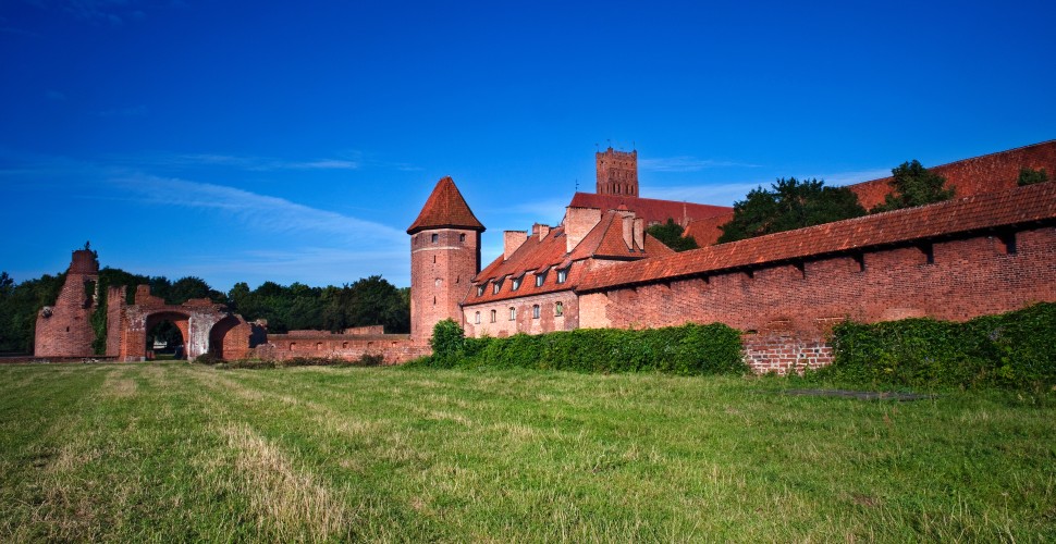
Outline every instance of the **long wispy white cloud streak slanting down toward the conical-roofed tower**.
[(134, 191), (145, 203), (218, 211), (272, 234), (311, 232), (370, 246), (403, 244), (406, 238), (402, 231), (380, 223), (223, 185), (145, 174), (114, 177), (110, 183)]

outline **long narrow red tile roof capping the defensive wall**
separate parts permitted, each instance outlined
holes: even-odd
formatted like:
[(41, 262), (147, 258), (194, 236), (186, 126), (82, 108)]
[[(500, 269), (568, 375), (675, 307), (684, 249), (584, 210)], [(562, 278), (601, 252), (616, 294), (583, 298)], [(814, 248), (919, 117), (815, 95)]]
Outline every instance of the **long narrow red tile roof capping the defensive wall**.
[(592, 270), (577, 293), (1056, 220), (1056, 182)]

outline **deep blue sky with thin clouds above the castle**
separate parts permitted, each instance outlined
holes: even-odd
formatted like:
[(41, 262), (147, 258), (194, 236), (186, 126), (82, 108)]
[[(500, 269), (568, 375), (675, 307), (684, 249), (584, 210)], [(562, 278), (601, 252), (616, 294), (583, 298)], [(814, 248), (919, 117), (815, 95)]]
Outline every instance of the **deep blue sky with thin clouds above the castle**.
[[(556, 223), (593, 153), (730, 205), (1056, 138), (1056, 2), (0, 1), (0, 270), (409, 284), (451, 175)], [(802, 5), (801, 5), (802, 4)]]

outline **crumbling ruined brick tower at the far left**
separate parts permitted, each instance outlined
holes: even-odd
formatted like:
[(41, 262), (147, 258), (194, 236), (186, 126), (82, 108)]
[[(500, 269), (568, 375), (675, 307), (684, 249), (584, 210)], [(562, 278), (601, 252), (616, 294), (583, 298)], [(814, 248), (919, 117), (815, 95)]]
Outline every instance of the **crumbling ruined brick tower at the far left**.
[(91, 312), (99, 298), (99, 260), (96, 252), (84, 249), (73, 252), (66, 271), (66, 282), (54, 306), (45, 306), (37, 313), (37, 330), (33, 354), (37, 357), (89, 357)]

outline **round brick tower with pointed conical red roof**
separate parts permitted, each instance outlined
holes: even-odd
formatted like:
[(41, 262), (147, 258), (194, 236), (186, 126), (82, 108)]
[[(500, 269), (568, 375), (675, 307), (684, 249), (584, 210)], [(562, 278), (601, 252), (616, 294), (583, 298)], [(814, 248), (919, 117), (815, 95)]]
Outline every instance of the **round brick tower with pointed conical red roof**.
[(477, 220), (451, 177), (432, 189), (410, 235), (410, 337), (426, 343), (437, 322), (451, 318), (462, 324), (458, 304), (480, 272), (480, 233)]

